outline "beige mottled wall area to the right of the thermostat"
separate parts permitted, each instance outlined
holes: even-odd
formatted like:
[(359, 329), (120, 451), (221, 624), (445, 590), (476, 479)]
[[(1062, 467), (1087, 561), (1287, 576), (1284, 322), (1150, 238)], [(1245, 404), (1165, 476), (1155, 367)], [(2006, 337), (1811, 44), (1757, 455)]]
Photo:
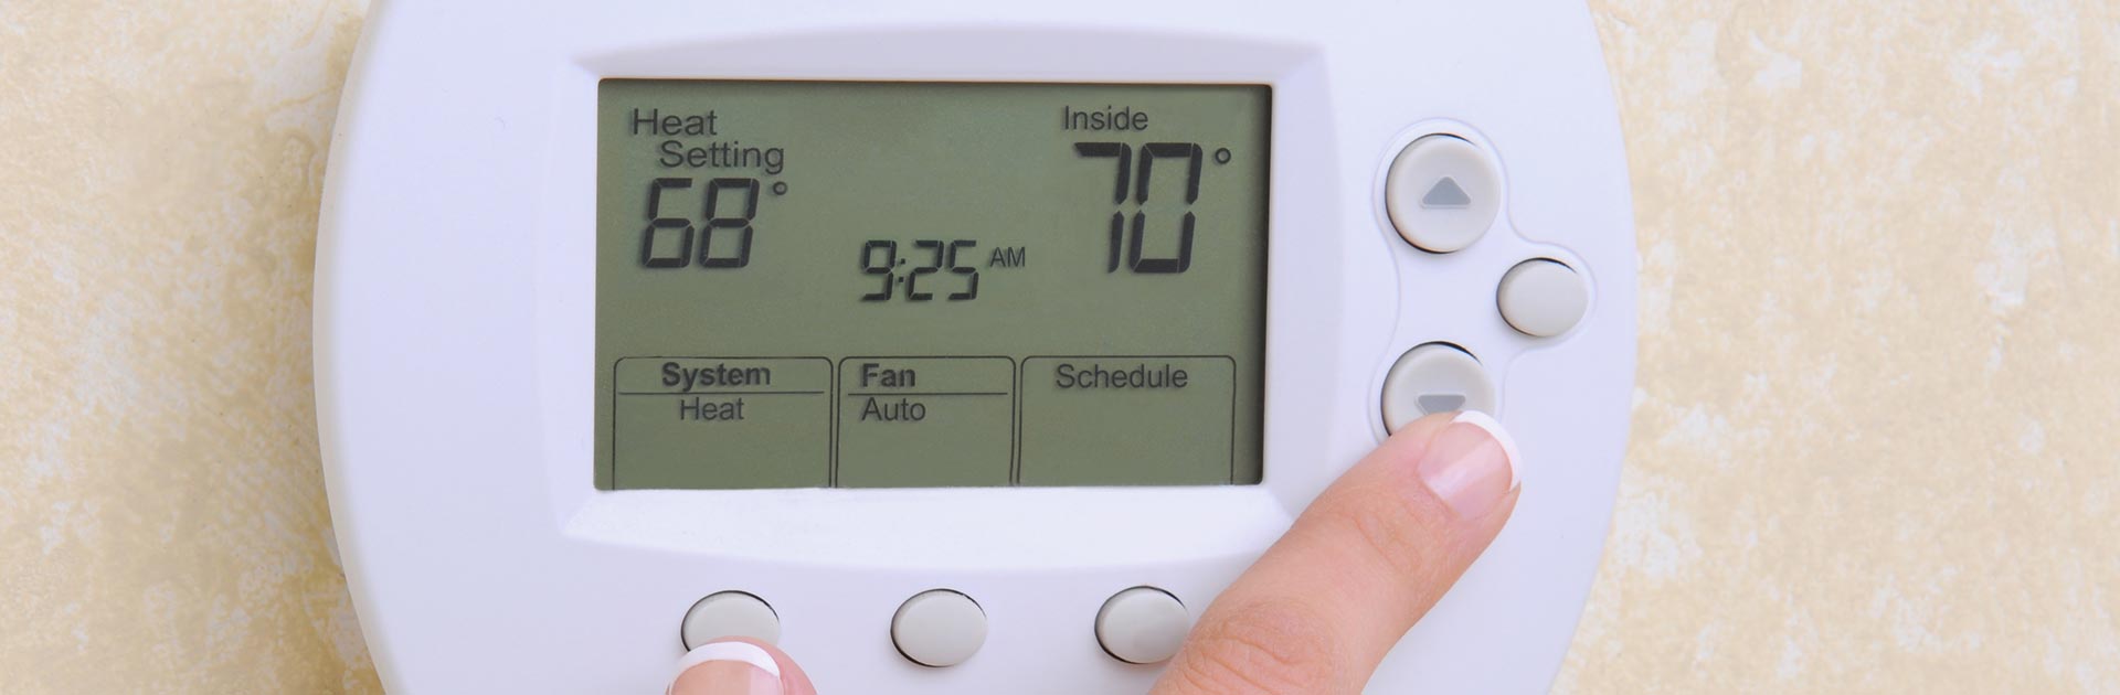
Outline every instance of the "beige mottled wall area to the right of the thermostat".
[(1643, 333), (1560, 689), (2120, 693), (2120, 2), (1594, 6)]

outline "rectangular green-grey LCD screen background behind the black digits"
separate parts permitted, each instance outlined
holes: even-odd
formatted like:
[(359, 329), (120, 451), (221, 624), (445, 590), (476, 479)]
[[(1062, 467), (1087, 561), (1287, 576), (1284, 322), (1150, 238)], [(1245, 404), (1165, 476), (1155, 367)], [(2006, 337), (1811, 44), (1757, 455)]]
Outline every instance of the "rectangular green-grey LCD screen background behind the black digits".
[[(1147, 112), (1147, 129), (1068, 131), (1062, 108)], [(636, 110), (700, 123), (712, 112), (714, 133), (653, 133)], [(1257, 85), (604, 81), (596, 485), (1257, 483), (1270, 110)], [(780, 170), (672, 167), (659, 161), (670, 140), (780, 148)], [(1130, 144), (1124, 203), (1113, 203), (1117, 163), (1079, 157), (1077, 142)], [(1134, 201), (1149, 142), (1202, 146), (1191, 206), (1183, 159), (1155, 159), (1149, 201)], [(693, 263), (644, 267), (655, 178), (691, 178), (664, 191), (661, 216), (695, 227), (708, 180), (757, 180), (748, 265), (700, 267), (695, 231)], [(744, 191), (727, 186), (719, 212), (740, 216)], [(1113, 212), (1147, 214), (1147, 259), (1172, 256), (1181, 216), (1196, 214), (1189, 269), (1109, 271)], [(659, 231), (653, 252), (674, 256), (678, 237)], [(907, 301), (903, 286), (861, 301), (882, 288), (863, 273), (871, 239), (899, 244), (909, 261), (899, 278), (929, 263), (914, 239), (975, 239), (958, 265), (977, 269), (977, 299), (948, 301), (965, 278), (941, 271), (918, 280), (933, 301)], [(717, 229), (714, 256), (736, 246), (734, 229)], [(994, 261), (996, 250), (1020, 250), (1022, 263)], [(863, 388), (863, 362), (912, 369), (918, 384)], [(1177, 364), (1189, 384), (1062, 390), (1058, 362)], [(765, 367), (774, 381), (678, 394), (659, 381), (664, 364)], [(918, 403), (924, 417), (865, 422), (871, 396)], [(744, 398), (742, 420), (683, 420), (681, 403), (697, 398)]]

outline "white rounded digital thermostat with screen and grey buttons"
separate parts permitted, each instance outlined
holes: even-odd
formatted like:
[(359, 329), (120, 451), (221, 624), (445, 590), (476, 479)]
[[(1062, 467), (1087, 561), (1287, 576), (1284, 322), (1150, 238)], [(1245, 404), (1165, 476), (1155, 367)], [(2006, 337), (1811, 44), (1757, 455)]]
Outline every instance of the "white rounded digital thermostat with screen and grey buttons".
[[(1372, 691), (1543, 691), (1635, 364), (1554, 2), (377, 2), (320, 439), (392, 691), (1141, 693), (1393, 428), (1524, 492)], [(1336, 587), (1314, 587), (1336, 591)]]

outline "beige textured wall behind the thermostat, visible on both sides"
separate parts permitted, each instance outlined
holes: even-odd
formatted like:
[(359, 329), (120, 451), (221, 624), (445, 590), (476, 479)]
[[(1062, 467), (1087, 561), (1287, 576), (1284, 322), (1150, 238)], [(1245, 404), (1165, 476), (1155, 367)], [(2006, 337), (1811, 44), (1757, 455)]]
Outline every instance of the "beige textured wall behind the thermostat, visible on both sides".
[[(2114, 0), (1592, 8), (1643, 337), (1558, 691), (2120, 693)], [(0, 691), (375, 691), (307, 356), (363, 11), (0, 2)]]

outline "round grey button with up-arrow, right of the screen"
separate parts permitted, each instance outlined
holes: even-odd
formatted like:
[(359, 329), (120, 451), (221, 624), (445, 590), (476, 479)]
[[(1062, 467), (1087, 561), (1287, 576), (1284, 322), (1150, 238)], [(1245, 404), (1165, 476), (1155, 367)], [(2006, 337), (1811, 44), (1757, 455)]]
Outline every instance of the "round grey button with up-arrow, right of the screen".
[(1495, 227), (1501, 170), (1465, 138), (1414, 140), (1391, 161), (1384, 210), (1408, 244), (1437, 254), (1463, 250)]

